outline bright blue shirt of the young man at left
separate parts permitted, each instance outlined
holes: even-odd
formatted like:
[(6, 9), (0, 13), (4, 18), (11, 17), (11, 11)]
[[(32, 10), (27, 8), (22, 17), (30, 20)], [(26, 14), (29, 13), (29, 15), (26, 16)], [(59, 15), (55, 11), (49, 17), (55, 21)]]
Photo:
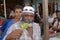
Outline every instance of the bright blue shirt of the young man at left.
[(14, 24), (14, 22), (13, 22), (13, 20), (11, 20), (11, 19), (8, 19), (8, 20), (4, 23), (3, 27), (1, 28), (1, 30), (2, 30), (3, 33), (2, 33), (2, 36), (0, 36), (0, 40), (2, 40), (2, 39), (4, 38), (4, 36), (6, 35), (6, 32), (7, 32), (8, 28), (9, 28), (12, 24)]

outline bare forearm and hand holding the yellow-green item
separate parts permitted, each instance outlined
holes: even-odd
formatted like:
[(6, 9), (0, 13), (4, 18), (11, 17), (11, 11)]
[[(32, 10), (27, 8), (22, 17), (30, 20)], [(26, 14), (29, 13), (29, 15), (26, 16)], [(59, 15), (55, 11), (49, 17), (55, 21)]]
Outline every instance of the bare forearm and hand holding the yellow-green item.
[(15, 40), (16, 38), (20, 38), (21, 35), (22, 35), (21, 30), (14, 30), (6, 37), (6, 40)]

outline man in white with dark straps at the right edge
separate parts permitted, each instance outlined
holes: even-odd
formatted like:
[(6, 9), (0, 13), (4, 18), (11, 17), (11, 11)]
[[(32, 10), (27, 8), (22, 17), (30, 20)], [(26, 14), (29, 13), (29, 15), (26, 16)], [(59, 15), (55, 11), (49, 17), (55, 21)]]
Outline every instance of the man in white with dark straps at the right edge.
[(56, 18), (52, 18), (50, 22), (51, 29), (60, 32), (60, 10), (56, 11)]

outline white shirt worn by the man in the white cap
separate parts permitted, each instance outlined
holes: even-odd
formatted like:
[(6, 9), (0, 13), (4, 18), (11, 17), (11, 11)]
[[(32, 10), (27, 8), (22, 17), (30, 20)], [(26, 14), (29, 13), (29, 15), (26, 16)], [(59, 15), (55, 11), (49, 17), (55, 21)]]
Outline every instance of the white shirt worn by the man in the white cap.
[[(7, 37), (7, 35), (9, 35), (12, 31), (16, 30), (16, 29), (20, 29), (20, 22), (17, 22), (15, 24), (13, 24), (7, 31), (5, 37), (3, 40), (5, 40), (5, 38)], [(40, 26), (37, 23), (33, 23), (33, 40), (40, 40), (41, 39), (41, 30), (40, 30)], [(29, 36), (28, 31), (25, 29), (22, 33), (22, 36), (20, 37), (20, 39), (17, 40), (32, 40), (31, 37)]]

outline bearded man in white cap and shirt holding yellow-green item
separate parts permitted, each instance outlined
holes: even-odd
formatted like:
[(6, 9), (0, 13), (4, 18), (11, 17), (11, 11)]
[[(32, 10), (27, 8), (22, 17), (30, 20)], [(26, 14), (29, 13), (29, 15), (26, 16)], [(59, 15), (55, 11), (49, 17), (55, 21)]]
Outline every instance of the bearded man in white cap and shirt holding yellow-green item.
[[(5, 40), (40, 40), (41, 30), (34, 20), (34, 8), (26, 6), (23, 8), (22, 21), (11, 26), (7, 31)], [(15, 30), (14, 30), (14, 29)]]

